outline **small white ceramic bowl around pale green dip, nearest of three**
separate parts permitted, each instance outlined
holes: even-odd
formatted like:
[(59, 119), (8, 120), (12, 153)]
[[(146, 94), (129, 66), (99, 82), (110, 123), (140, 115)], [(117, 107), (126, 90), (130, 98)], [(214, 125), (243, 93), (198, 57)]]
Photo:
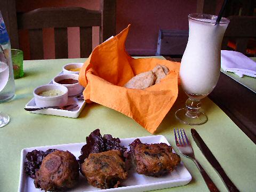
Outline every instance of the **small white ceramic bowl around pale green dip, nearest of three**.
[[(61, 95), (46, 97), (40, 96), (42, 92), (49, 90), (60, 90), (62, 92)], [(68, 89), (63, 85), (42, 85), (36, 87), (34, 90), (34, 98), (37, 107), (47, 107), (47, 106), (65, 106), (68, 103)]]

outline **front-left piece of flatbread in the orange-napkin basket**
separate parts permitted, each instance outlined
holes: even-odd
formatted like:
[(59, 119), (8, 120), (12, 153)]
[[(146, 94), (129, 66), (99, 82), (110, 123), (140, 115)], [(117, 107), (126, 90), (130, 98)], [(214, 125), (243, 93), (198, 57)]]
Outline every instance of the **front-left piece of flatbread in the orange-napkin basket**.
[(131, 78), (127, 83), (125, 83), (124, 87), (130, 89), (146, 89), (154, 85), (155, 81), (155, 74), (152, 71), (147, 71)]

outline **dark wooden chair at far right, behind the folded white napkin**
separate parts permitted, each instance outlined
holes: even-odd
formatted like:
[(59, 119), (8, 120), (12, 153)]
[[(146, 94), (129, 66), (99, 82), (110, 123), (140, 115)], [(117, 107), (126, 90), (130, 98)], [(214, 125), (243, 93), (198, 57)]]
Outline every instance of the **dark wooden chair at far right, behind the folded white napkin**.
[[(235, 39), (235, 51), (246, 54), (248, 42), (256, 38), (256, 17), (230, 16), (230, 23), (222, 41), (222, 49), (228, 49), (230, 39)], [(255, 47), (254, 47), (255, 49)]]

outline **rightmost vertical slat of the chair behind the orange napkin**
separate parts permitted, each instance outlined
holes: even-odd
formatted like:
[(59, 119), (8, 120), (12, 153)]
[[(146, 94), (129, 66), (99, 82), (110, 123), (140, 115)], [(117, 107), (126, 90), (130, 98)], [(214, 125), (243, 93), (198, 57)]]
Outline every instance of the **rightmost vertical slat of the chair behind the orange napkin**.
[(80, 27), (80, 57), (87, 58), (92, 52), (92, 27)]

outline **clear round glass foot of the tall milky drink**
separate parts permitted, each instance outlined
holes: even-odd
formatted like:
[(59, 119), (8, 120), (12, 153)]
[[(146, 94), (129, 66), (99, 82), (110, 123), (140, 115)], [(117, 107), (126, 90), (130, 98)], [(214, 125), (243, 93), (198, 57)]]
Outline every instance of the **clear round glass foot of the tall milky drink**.
[(187, 125), (202, 125), (208, 121), (208, 117), (201, 111), (197, 111), (196, 116), (189, 116), (187, 114), (188, 109), (182, 108), (176, 111), (175, 117), (184, 124)]

